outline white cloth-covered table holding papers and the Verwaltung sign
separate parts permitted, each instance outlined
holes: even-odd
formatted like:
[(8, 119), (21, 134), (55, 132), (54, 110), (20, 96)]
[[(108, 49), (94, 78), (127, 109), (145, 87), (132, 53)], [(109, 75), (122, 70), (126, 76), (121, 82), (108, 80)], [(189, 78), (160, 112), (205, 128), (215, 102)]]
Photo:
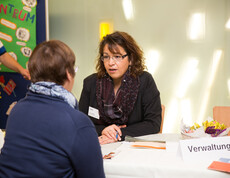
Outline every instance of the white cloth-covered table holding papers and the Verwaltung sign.
[(230, 174), (207, 169), (210, 161), (185, 162), (178, 155), (180, 134), (154, 134), (140, 137), (166, 141), (166, 150), (124, 147), (124, 142), (102, 145), (102, 154), (115, 151), (104, 160), (106, 178), (229, 178)]

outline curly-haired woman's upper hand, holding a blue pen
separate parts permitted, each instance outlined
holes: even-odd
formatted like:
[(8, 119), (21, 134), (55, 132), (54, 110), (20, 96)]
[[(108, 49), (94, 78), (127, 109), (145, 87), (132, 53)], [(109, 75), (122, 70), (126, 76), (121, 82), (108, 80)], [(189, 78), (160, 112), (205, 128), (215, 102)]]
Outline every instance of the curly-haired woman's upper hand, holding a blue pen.
[(102, 136), (105, 135), (106, 137), (108, 137), (109, 139), (113, 139), (114, 141), (121, 140), (121, 136), (122, 136), (121, 128), (125, 128), (125, 127), (126, 125), (117, 126), (113, 124), (104, 128), (101, 134)]

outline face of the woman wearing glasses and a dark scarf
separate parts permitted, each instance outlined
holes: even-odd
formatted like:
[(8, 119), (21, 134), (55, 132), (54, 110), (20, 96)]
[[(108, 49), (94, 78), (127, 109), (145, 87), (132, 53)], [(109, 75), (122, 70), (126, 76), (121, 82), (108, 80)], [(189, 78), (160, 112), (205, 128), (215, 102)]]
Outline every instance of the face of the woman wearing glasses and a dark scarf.
[[(128, 55), (124, 56), (127, 54), (124, 48), (119, 45), (117, 45), (117, 48), (119, 51), (116, 51), (116, 53), (111, 53), (109, 51), (108, 45), (106, 44), (103, 50), (103, 56), (106, 56), (107, 58), (106, 60), (104, 59), (104, 66), (107, 73), (110, 75), (110, 77), (112, 77), (114, 82), (120, 83), (129, 65), (131, 65), (131, 62), (128, 60)], [(119, 57), (120, 60), (116, 60)]]

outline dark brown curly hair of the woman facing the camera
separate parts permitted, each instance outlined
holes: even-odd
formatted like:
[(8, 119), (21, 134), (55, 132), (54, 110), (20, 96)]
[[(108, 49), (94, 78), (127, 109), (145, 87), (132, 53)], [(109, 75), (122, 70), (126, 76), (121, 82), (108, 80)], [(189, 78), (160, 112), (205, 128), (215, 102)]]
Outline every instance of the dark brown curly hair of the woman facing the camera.
[(139, 76), (146, 68), (143, 51), (137, 45), (136, 41), (128, 33), (116, 31), (106, 35), (99, 44), (99, 54), (96, 61), (96, 70), (99, 78), (106, 74), (104, 62), (101, 60), (106, 44), (108, 44), (108, 48), (112, 53), (119, 52), (117, 45), (121, 46), (126, 51), (129, 61), (131, 61), (130, 73), (132, 76)]

